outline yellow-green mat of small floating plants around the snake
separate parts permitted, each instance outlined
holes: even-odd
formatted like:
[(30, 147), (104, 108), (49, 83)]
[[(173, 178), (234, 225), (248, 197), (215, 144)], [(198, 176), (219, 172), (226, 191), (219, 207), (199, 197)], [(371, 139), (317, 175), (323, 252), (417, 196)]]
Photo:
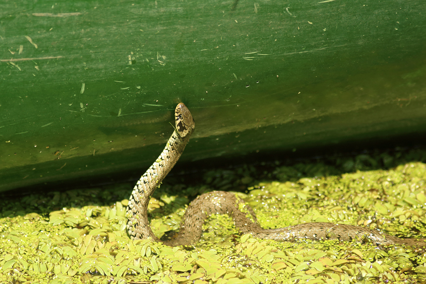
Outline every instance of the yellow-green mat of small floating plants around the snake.
[[(426, 154), (378, 153), (284, 166), (208, 171), (199, 184), (170, 176), (151, 199), (151, 226), (176, 230), (185, 206), (213, 189), (237, 192), (264, 227), (337, 222), (426, 237)], [(173, 185), (171, 185), (173, 184)], [(426, 253), (357, 242), (277, 242), (214, 215), (191, 247), (131, 241), (132, 184), (3, 197), (1, 283), (425, 283)]]

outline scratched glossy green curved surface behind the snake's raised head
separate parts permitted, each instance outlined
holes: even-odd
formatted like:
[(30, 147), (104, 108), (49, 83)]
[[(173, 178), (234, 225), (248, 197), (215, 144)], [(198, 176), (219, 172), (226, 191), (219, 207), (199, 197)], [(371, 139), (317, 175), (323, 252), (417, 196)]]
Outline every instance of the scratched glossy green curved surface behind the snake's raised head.
[(423, 1), (1, 5), (0, 190), (425, 132)]

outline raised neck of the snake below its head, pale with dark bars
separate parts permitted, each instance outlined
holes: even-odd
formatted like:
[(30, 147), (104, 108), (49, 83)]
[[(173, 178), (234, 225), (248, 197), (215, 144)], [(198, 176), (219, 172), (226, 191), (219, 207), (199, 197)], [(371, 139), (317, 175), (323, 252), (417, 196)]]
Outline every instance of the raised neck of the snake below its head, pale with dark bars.
[(149, 226), (149, 200), (163, 178), (176, 164), (188, 140), (189, 135), (182, 138), (179, 136), (177, 130), (173, 131), (161, 154), (137, 181), (129, 198), (126, 212), (128, 219), (127, 231), (131, 239), (145, 239), (150, 237), (153, 240), (159, 240)]

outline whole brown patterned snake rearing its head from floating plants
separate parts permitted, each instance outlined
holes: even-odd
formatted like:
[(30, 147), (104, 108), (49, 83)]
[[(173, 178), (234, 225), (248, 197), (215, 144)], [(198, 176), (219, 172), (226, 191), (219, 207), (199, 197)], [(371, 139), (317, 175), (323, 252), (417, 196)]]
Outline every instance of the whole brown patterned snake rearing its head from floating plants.
[(166, 245), (194, 245), (202, 236), (202, 225), (212, 214), (228, 214), (242, 234), (250, 233), (255, 238), (279, 241), (302, 241), (338, 239), (358, 241), (374, 245), (426, 246), (426, 239), (400, 238), (379, 229), (336, 224), (330, 222), (307, 222), (283, 228), (265, 229), (254, 210), (244, 200), (228, 191), (211, 191), (196, 197), (186, 209), (177, 235), (160, 240), (152, 231), (148, 219), (148, 204), (154, 190), (169, 173), (182, 155), (189, 137), (195, 129), (195, 121), (182, 102), (175, 108), (175, 129), (155, 162), (140, 177), (133, 188), (126, 208), (127, 232), (131, 239), (162, 241)]

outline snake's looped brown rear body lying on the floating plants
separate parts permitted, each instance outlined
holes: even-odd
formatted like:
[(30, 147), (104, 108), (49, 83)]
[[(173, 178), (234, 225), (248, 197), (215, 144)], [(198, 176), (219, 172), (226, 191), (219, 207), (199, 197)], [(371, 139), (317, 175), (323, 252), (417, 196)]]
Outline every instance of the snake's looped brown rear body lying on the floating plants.
[[(244, 212), (240, 210), (241, 208)], [(426, 245), (426, 239), (399, 238), (380, 230), (347, 224), (314, 222), (264, 229), (259, 225), (253, 209), (235, 194), (226, 191), (212, 191), (195, 198), (185, 212), (178, 237), (165, 243), (172, 246), (195, 243), (201, 237), (204, 220), (215, 213), (228, 214), (241, 233), (251, 233), (254, 237), (263, 239), (284, 241), (339, 239), (370, 242), (375, 245), (404, 244), (419, 248)]]

